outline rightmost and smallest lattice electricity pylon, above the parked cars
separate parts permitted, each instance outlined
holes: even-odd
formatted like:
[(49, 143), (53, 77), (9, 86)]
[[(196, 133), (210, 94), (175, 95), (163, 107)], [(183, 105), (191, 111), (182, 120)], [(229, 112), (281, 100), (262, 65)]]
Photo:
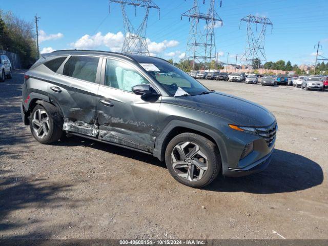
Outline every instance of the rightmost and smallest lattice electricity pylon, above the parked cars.
[[(260, 65), (267, 60), (264, 51), (265, 32), (268, 25), (271, 26), (272, 32), (273, 24), (267, 17), (254, 15), (243, 17), (240, 24), (241, 22), (247, 23), (247, 45), (241, 60), (245, 60), (249, 69), (259, 69)], [(257, 25), (261, 25), (259, 32), (257, 31)]]

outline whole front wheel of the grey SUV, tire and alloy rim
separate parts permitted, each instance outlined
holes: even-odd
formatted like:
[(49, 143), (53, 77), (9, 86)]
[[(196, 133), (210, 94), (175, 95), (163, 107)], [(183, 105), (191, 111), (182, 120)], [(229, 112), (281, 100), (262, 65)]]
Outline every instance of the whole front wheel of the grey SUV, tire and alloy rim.
[(221, 169), (216, 145), (195, 133), (181, 133), (168, 144), (165, 152), (170, 174), (186, 186), (201, 188), (209, 185)]

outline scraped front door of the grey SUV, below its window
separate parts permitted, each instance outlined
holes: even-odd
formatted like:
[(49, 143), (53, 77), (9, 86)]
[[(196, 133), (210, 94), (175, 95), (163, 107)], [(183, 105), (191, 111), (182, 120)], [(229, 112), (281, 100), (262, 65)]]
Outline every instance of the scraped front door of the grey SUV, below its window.
[[(112, 107), (99, 103), (106, 98)], [(160, 98), (144, 101), (140, 95), (101, 86), (98, 93), (99, 138), (152, 153)]]

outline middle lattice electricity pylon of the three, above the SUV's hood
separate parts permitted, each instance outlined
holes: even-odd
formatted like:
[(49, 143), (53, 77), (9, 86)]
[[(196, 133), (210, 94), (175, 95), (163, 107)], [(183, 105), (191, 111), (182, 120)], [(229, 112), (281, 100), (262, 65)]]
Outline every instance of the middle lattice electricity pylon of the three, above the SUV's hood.
[[(198, 0), (194, 0), (194, 7), (181, 14), (181, 19), (182, 16), (188, 17), (191, 23), (185, 60), (192, 61), (193, 70), (196, 63), (203, 64), (204, 67), (212, 60), (215, 60), (216, 63), (214, 28), (217, 27), (217, 24), (222, 26), (222, 19), (215, 11), (215, 0), (211, 0), (208, 12), (205, 14), (200, 13)], [(199, 25), (200, 19), (205, 20), (204, 28)]]

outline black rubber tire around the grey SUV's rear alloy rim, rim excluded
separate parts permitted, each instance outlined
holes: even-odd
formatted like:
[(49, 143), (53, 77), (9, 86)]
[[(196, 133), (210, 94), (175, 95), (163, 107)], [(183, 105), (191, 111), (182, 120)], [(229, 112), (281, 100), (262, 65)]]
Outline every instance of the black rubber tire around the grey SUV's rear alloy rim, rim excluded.
[[(46, 136), (43, 138), (40, 138), (36, 135), (34, 129), (33, 129), (33, 116), (37, 110), (44, 110), (46, 111), (48, 118), (49, 118), (49, 131)], [(63, 134), (63, 124), (64, 119), (59, 114), (57, 108), (49, 103), (44, 103), (43, 106), (36, 105), (31, 113), (30, 117), (30, 130), (33, 135), (33, 137), (40, 142), (41, 144), (51, 144), (52, 142), (56, 142), (60, 139), (61, 135)]]

